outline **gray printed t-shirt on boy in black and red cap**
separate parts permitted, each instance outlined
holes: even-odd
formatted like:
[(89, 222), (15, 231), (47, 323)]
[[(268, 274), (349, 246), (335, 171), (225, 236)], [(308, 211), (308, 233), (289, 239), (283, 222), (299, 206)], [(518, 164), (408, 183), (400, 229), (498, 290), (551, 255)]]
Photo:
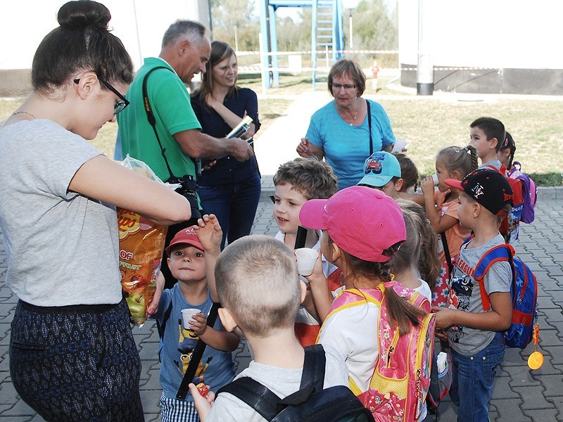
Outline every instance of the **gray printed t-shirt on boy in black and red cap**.
[[(467, 243), (460, 250), (457, 263), (452, 271), (450, 297), (448, 306), (464, 312), (485, 312), (481, 301), (481, 290), (479, 283), (473, 278), (475, 267), (481, 257), (489, 249), (496, 245), (505, 243), (500, 234), (497, 234), (487, 243), (474, 249), (467, 249), (471, 243)], [(495, 262), (488, 269), (483, 279), (485, 290), (488, 295), (495, 292), (510, 292), (512, 283), (512, 269), (508, 262)], [(484, 331), (466, 326), (453, 326), (448, 329), (450, 345), (456, 352), (469, 356), (483, 350), (491, 343), (495, 331)]]

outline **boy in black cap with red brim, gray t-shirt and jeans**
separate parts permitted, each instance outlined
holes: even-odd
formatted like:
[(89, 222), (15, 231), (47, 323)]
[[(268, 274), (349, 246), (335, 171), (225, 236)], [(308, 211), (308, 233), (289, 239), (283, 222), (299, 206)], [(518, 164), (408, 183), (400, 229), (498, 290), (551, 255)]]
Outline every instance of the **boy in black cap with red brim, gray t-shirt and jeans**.
[(487, 312), (474, 271), (489, 249), (504, 243), (498, 228), (502, 217), (510, 212), (512, 189), (494, 170), (476, 170), (462, 181), (447, 179), (445, 183), (461, 190), (457, 215), (474, 237), (457, 258), (448, 307), (434, 308), (436, 333), (444, 338), (446, 330), (452, 347), (450, 397), (459, 406), (457, 421), (487, 421), (493, 379), (505, 355), (498, 331), (509, 328), (512, 321), (512, 270), (508, 262), (495, 262), (486, 272), (483, 286), (491, 300)]

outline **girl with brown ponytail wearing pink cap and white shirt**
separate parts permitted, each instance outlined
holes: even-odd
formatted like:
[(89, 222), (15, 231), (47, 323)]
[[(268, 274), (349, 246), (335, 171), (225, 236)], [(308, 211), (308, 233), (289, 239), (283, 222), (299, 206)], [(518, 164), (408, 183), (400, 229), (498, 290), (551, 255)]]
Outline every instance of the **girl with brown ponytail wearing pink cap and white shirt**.
[[(382, 309), (386, 309), (391, 328), (398, 329), (400, 335), (416, 329), (419, 318), (427, 315), (393, 289), (389, 261), (407, 236), (403, 212), (382, 191), (351, 186), (328, 200), (308, 200), (299, 219), (305, 227), (322, 230), (324, 257), (342, 269), (345, 285), (331, 305), (317, 343), (339, 350), (350, 373), (350, 389), (361, 398), (369, 392), (379, 357), (378, 320)], [(319, 267), (307, 277), (315, 305), (317, 301), (332, 302)], [(382, 301), (376, 299), (381, 298), (376, 290), (384, 291)], [(367, 300), (358, 302), (358, 295)], [(348, 305), (335, 305), (343, 301)], [(429, 310), (427, 301), (426, 305)], [(367, 402), (364, 404), (368, 407)]]

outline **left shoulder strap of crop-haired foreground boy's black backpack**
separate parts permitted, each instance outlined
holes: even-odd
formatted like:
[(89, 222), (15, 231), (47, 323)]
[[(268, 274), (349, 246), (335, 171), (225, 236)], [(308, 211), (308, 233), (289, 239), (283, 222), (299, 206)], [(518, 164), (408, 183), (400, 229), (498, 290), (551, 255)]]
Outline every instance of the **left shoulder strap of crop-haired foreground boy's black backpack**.
[(249, 407), (257, 411), (267, 421), (272, 421), (281, 411), (281, 408), (278, 409), (281, 399), (270, 388), (248, 376), (224, 385), (224, 387), (217, 391), (217, 395), (220, 395), (222, 392), (228, 392), (248, 404)]

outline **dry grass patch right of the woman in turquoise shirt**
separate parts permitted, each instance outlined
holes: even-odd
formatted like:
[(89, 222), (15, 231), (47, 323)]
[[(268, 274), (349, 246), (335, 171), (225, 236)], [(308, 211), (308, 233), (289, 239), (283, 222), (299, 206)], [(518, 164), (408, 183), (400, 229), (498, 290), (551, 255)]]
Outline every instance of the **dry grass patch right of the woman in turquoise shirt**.
[(443, 103), (437, 100), (397, 101), (379, 98), (396, 136), (407, 139), (408, 155), (420, 174), (434, 173), (434, 158), (445, 146), (465, 146), (469, 124), (477, 117), (501, 120), (517, 144), (514, 160), (526, 173), (550, 174), (542, 184), (561, 185), (563, 178), (562, 101), (502, 99), (494, 103)]

